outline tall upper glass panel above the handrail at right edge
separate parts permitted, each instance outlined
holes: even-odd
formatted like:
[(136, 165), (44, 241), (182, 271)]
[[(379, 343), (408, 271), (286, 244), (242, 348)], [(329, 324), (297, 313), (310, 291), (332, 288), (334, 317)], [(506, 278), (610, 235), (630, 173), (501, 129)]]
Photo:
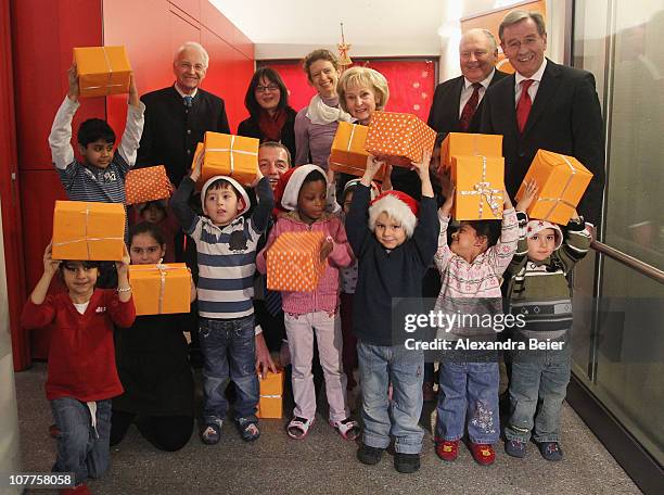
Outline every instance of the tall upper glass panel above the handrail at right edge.
[(664, 268), (664, 1), (618, 1), (615, 18), (605, 242)]

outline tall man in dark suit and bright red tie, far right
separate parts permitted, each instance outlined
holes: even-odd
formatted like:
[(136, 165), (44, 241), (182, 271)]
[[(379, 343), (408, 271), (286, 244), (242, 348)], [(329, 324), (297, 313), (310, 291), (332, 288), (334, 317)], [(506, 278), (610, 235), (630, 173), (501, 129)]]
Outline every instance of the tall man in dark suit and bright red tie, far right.
[(499, 134), (505, 182), (513, 198), (538, 149), (576, 157), (593, 178), (578, 212), (597, 225), (604, 187), (602, 115), (592, 74), (546, 59), (547, 33), (540, 14), (506, 15), (500, 46), (516, 71), (484, 96), (485, 134)]

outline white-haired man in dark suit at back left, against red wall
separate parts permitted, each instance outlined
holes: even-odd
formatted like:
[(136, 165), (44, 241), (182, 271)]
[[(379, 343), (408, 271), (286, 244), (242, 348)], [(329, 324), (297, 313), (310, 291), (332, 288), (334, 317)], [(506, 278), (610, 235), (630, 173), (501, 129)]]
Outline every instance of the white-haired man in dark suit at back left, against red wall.
[(137, 164), (164, 165), (170, 181), (178, 186), (191, 167), (196, 143), (206, 130), (229, 134), (224, 100), (200, 88), (209, 56), (193, 41), (175, 53), (173, 86), (143, 94), (145, 127)]

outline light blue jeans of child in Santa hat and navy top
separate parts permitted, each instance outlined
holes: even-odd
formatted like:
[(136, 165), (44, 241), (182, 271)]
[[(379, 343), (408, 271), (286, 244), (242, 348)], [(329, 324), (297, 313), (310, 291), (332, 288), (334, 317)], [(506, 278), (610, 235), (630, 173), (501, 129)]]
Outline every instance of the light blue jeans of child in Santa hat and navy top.
[[(382, 346), (358, 341), (357, 357), (365, 423), (362, 441), (370, 447), (387, 448), (392, 434), (396, 452), (419, 454), (424, 436), (418, 423), (422, 414), (424, 355), (403, 345)], [(392, 404), (387, 397), (390, 383)]]

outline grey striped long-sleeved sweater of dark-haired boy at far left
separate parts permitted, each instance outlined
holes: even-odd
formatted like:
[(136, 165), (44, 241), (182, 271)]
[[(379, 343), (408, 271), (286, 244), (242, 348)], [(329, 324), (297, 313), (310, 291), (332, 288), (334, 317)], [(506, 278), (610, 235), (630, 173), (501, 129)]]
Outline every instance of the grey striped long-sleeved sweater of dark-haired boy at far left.
[(72, 201), (94, 201), (99, 203), (125, 203), (125, 177), (136, 163), (137, 150), (143, 132), (145, 105), (127, 106), (127, 124), (123, 139), (106, 168), (80, 163), (72, 148), (72, 119), (80, 106), (77, 101), (65, 97), (58, 109), (49, 145), (51, 158), (60, 176), (67, 198)]

